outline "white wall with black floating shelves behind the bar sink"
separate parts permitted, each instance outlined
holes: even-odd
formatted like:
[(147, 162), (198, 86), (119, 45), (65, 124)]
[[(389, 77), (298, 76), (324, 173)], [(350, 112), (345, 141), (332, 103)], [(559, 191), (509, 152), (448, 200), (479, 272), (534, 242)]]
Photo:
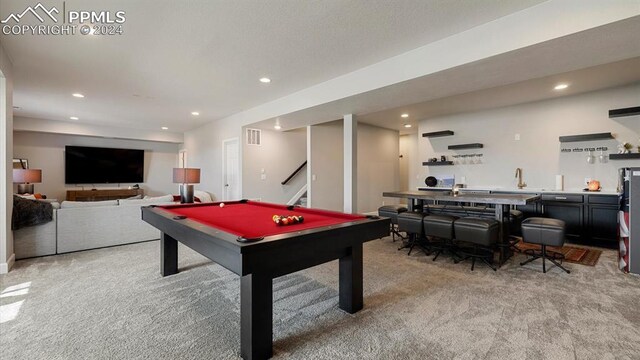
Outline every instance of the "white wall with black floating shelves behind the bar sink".
[[(482, 164), (419, 166), (411, 172), (410, 186), (424, 186), (428, 175), (455, 174), (469, 186), (509, 187), (517, 184), (517, 167), (524, 169), (528, 188), (553, 189), (555, 175), (565, 177), (565, 190), (584, 188), (584, 178), (600, 180), (604, 190), (615, 190), (617, 169), (640, 166), (639, 160), (587, 164), (586, 153), (561, 153), (562, 148), (606, 146), (617, 151), (619, 141), (640, 145), (638, 116), (609, 119), (610, 109), (638, 106), (640, 84), (582, 95), (510, 106), (500, 109), (427, 119), (420, 122), (420, 165), (430, 157), (483, 153)], [(454, 136), (423, 138), (424, 132), (453, 130)], [(559, 136), (612, 132), (615, 140), (560, 143)], [(515, 134), (521, 140), (516, 141)], [(483, 149), (447, 150), (447, 145), (483, 143)], [(637, 152), (634, 148), (634, 152)]]

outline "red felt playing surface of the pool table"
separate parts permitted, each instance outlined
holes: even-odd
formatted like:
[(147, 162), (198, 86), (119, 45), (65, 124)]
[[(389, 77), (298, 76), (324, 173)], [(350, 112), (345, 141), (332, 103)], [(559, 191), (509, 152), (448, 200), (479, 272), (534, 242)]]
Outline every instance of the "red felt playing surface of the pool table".
[[(288, 205), (258, 201), (228, 202), (224, 207), (220, 207), (219, 203), (211, 203), (168, 205), (157, 208), (164, 209), (173, 215), (186, 216), (188, 219), (244, 238), (259, 238), (343, 224), (365, 218), (364, 215), (303, 207), (289, 210)], [(304, 217), (304, 221), (299, 224), (279, 226), (273, 222), (273, 215), (301, 215)]]

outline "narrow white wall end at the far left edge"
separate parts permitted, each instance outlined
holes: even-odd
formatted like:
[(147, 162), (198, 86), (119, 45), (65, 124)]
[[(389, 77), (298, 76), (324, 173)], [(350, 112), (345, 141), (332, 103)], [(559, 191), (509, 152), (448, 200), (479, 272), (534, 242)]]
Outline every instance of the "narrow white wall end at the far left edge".
[(14, 261), (11, 213), (13, 211), (13, 67), (0, 44), (0, 274)]

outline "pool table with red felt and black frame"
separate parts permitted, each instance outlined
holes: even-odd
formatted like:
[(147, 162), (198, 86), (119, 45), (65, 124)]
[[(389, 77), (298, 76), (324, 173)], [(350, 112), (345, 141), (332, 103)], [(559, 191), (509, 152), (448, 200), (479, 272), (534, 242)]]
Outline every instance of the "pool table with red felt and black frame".
[[(362, 244), (389, 235), (389, 219), (257, 201), (142, 207), (162, 232), (160, 272), (178, 272), (178, 241), (240, 275), (244, 359), (272, 356), (276, 277), (339, 259), (339, 306), (362, 309)], [(278, 226), (273, 215), (304, 220)]]

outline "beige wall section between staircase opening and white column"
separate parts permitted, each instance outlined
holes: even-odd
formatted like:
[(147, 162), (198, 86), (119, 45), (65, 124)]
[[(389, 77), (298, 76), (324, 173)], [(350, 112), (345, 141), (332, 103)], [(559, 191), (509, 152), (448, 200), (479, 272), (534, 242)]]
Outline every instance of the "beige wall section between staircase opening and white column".
[(342, 120), (310, 127), (311, 207), (342, 211), (344, 204), (344, 144)]

